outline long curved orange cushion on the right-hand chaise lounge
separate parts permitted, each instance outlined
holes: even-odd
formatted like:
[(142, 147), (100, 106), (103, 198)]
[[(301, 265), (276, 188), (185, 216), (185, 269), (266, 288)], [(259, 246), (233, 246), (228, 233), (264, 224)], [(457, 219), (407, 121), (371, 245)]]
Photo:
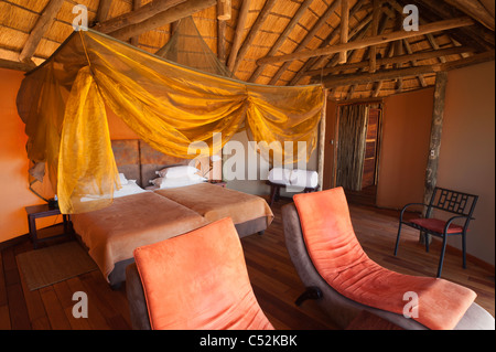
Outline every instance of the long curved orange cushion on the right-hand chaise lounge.
[(475, 300), (475, 292), (436, 278), (382, 268), (363, 250), (353, 230), (342, 188), (294, 195), (303, 237), (322, 278), (359, 303), (403, 314), (405, 294), (418, 295), (418, 317), (429, 329), (453, 329)]

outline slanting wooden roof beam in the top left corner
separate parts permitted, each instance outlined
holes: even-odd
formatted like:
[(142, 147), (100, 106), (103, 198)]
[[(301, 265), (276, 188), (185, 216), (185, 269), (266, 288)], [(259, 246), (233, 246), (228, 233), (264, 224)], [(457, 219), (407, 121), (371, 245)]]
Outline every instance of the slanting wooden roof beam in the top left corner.
[(31, 31), (26, 42), (24, 43), (24, 47), (19, 54), (19, 61), (29, 62), (31, 60), (43, 38), (43, 34), (45, 34), (45, 32), (48, 30), (50, 25), (53, 22), (53, 19), (58, 13), (58, 10), (61, 10), (63, 3), (64, 0), (50, 0), (40, 18), (37, 19), (36, 23), (34, 24), (34, 28)]

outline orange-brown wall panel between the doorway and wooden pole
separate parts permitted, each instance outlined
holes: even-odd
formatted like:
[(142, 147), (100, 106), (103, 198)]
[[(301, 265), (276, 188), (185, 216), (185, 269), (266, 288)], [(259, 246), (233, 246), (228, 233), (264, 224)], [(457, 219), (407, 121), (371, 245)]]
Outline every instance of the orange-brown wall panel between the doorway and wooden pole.
[(433, 88), (385, 99), (378, 206), (401, 209), (423, 202), (433, 104)]

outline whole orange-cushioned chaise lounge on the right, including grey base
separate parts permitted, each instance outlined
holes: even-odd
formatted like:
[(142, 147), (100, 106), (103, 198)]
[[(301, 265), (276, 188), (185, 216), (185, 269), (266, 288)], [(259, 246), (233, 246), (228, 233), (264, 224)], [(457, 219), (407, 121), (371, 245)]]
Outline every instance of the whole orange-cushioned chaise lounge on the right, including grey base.
[[(282, 221), (288, 252), (308, 287), (298, 303), (305, 297), (316, 299), (342, 328), (363, 311), (408, 330), (495, 328), (471, 289), (402, 275), (373, 262), (356, 238), (342, 188), (296, 194), (293, 200), (282, 207)], [(412, 292), (418, 306), (405, 312)]]

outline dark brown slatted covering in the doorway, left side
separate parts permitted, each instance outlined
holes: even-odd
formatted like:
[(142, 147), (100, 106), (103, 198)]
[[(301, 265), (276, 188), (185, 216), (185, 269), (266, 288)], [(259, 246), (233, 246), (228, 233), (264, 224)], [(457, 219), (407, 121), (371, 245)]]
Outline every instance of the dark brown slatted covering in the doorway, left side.
[(339, 107), (336, 184), (362, 191), (367, 137), (367, 105)]

